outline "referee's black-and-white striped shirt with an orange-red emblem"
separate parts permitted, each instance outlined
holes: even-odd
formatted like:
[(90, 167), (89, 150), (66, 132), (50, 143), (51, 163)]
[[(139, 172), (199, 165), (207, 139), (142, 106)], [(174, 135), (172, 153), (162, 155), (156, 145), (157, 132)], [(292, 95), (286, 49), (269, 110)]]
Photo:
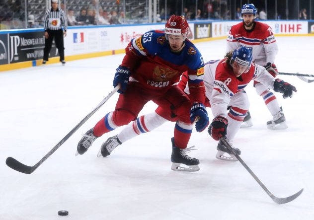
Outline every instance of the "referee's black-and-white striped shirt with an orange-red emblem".
[(68, 21), (67, 16), (65, 15), (62, 9), (57, 8), (53, 10), (52, 8), (46, 11), (44, 17), (44, 28), (45, 31), (49, 30), (59, 30), (64, 27), (64, 31), (67, 31)]

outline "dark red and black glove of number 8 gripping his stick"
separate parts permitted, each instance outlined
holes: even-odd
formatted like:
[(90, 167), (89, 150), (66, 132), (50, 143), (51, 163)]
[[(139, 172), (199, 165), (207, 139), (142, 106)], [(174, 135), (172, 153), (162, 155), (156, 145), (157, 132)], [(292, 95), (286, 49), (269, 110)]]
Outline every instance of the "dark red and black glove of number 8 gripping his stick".
[(208, 128), (208, 134), (216, 141), (227, 135), (228, 119), (222, 116), (218, 116), (213, 119), (211, 125)]

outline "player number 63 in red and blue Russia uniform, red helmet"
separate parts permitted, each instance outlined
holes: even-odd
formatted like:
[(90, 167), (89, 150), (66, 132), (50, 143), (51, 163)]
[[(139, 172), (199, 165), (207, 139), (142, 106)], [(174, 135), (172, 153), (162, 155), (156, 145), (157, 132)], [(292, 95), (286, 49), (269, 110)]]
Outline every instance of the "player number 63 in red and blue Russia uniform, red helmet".
[[(117, 127), (136, 120), (138, 113), (148, 101), (154, 101), (163, 108), (171, 108), (177, 116), (172, 142), (171, 161), (177, 168), (181, 163), (188, 171), (199, 169), (199, 160), (185, 152), (193, 123), (201, 132), (209, 124), (203, 84), (203, 58), (197, 48), (187, 40), (188, 23), (184, 16), (172, 15), (164, 31), (149, 31), (131, 40), (126, 55), (117, 68), (113, 86), (120, 84), (120, 94), (115, 110), (109, 112), (79, 141), (79, 154), (87, 151), (96, 138)], [(172, 86), (180, 75), (187, 71), (190, 96), (178, 86)], [(196, 120), (197, 119), (197, 120)], [(106, 145), (119, 142), (107, 140)], [(106, 156), (103, 147), (100, 153)]]

